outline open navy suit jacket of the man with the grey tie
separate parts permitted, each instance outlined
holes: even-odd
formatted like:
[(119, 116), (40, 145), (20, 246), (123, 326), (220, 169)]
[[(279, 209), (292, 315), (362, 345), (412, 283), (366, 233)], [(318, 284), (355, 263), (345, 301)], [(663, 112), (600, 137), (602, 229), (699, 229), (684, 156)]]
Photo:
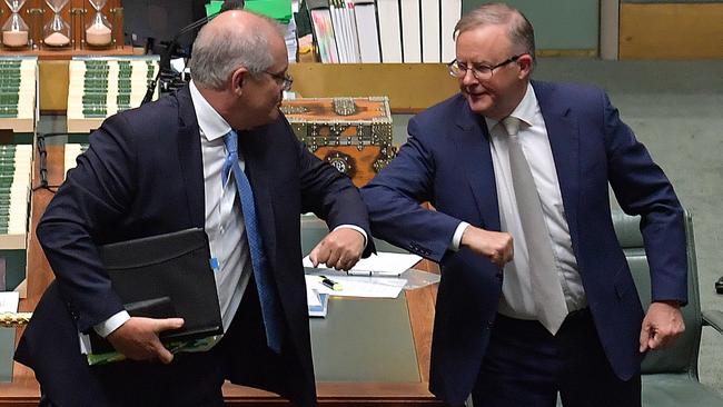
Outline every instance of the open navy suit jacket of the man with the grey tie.
[[(624, 211), (642, 215), (654, 300), (686, 300), (683, 211), (603, 91), (536, 81), (533, 88), (595, 326), (614, 371), (628, 379), (640, 371), (643, 308), (613, 230), (608, 182)], [(413, 118), (408, 130), (398, 157), (361, 195), (376, 237), (440, 264), (430, 390), (457, 405), (477, 377), (503, 280), (486, 258), (448, 250), (460, 220), (499, 230), (489, 132), (460, 95)]]

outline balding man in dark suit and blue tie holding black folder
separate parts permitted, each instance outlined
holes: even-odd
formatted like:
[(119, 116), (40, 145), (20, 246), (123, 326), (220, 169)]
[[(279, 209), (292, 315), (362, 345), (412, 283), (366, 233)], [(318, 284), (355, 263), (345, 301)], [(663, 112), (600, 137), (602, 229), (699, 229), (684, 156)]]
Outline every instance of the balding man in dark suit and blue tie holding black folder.
[[(37, 230), (56, 282), (16, 358), (34, 369), (42, 405), (220, 406), (225, 379), (316, 404), (299, 214), (333, 230), (311, 252), (317, 264), (348, 269), (373, 247), (358, 190), (278, 110), (287, 68), (275, 22), (224, 12), (195, 42), (189, 87), (90, 136)], [(97, 248), (191, 227), (218, 260), (225, 334), (208, 351), (171, 355), (158, 334), (184, 321), (130, 317)], [(79, 332), (90, 330), (128, 360), (89, 367)]]

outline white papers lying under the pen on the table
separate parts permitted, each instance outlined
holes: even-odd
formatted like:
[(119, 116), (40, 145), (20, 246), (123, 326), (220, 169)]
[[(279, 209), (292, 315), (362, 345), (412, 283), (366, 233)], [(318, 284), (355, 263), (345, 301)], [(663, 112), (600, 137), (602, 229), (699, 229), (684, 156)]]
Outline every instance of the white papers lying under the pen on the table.
[(319, 275), (306, 275), (305, 277), (307, 291), (316, 290), (319, 295), (327, 294), (338, 297), (397, 298), (407, 284), (404, 278), (334, 276), (331, 279), (343, 287), (334, 290), (321, 284)]

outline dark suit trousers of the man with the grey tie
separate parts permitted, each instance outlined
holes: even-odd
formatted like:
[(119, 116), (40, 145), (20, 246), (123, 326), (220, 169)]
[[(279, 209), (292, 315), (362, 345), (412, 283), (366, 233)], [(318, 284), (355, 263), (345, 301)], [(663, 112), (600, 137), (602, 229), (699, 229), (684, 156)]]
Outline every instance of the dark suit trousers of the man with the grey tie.
[(553, 336), (535, 320), (497, 315), (472, 397), (475, 407), (640, 407), (640, 374), (611, 368), (590, 310), (571, 312)]

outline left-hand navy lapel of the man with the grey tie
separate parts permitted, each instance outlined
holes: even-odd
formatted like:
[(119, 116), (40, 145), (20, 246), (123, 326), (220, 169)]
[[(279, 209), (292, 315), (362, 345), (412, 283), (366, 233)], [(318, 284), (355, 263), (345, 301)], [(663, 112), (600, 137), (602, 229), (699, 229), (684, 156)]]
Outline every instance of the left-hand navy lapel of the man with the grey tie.
[(482, 117), (474, 113), (462, 99), (456, 127), (452, 135), (457, 157), (463, 162), (472, 195), (487, 230), (499, 230), (497, 185), (489, 150), (489, 132)]

